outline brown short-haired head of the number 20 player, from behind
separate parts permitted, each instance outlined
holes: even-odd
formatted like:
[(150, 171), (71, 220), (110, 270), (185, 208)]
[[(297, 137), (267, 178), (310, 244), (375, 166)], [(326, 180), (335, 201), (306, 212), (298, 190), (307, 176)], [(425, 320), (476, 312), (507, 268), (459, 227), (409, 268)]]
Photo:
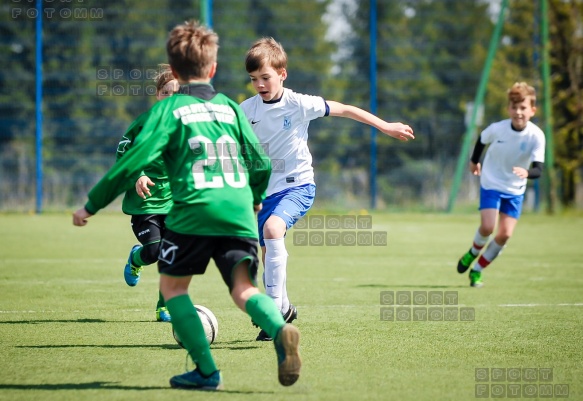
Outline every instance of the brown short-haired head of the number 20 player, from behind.
[(208, 78), (218, 50), (219, 36), (198, 21), (177, 25), (166, 42), (168, 62), (184, 81)]

